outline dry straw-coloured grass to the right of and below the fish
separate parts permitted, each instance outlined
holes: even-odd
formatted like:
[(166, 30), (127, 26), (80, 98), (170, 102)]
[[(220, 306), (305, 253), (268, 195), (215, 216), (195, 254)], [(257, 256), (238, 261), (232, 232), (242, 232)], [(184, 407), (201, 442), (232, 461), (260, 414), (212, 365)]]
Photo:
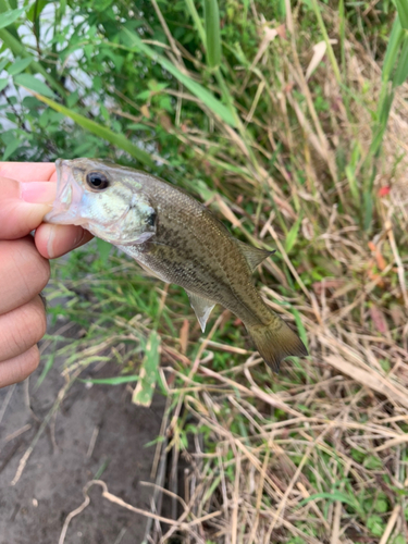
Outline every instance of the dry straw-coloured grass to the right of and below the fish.
[[(217, 190), (207, 188), (206, 198), (234, 234), (277, 249), (262, 264), (262, 293), (307, 336), (310, 357), (273, 375), (249, 343), (223, 341), (227, 312), (213, 321), (198, 354), (193, 317), (174, 318), (178, 337), (163, 325), (161, 379), (171, 409), (157, 484), (183, 514), (163, 520), (153, 507), (146, 542), (408, 542), (408, 86), (396, 94), (375, 164), (374, 223), (363, 231), (353, 184), (361, 195), (371, 172), (364, 158), (380, 67), (347, 34), (346, 88), (327, 58), (307, 81), (314, 44), (297, 13), (289, 10), (276, 28), (254, 3), (251, 10), (259, 53), (249, 66), (226, 69), (235, 77), (240, 129), (214, 116), (208, 132), (180, 124), (180, 116), (163, 122), (181, 152), (193, 149), (198, 170), (213, 177)], [(338, 39), (336, 14), (325, 17)], [(185, 51), (171, 45), (182, 67)], [(180, 108), (197, 100), (171, 92)], [(381, 187), (391, 193), (381, 196)], [(151, 322), (118, 319), (116, 325), (109, 345), (146, 333)], [(213, 367), (220, 353), (231, 356), (223, 368)], [(163, 489), (163, 450), (173, 450), (173, 472), (178, 454), (189, 463), (177, 493)], [(132, 508), (106, 489), (103, 496)]]

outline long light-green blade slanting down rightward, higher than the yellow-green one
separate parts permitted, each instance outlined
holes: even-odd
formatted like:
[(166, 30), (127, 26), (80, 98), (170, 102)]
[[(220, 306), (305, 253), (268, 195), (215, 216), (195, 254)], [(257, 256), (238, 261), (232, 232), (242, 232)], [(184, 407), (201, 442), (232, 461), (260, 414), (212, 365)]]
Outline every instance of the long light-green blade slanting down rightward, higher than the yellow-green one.
[[(205, 103), (215, 115), (219, 115), (225, 123), (231, 126), (236, 126), (236, 121), (232, 112), (226, 108), (220, 100), (218, 100), (211, 92), (209, 92), (202, 85), (193, 81), (188, 75), (181, 72), (174, 64), (172, 64), (168, 59), (157, 53), (154, 49), (144, 44), (141, 39), (134, 32), (124, 27), (122, 36), (127, 38), (129, 47), (124, 47), (129, 51), (141, 51), (147, 57), (158, 62), (164, 70), (170, 72), (176, 79), (178, 79), (187, 89), (193, 92), (197, 98), (199, 98), (202, 103)], [(116, 44), (110, 44), (111, 47), (118, 47)]]

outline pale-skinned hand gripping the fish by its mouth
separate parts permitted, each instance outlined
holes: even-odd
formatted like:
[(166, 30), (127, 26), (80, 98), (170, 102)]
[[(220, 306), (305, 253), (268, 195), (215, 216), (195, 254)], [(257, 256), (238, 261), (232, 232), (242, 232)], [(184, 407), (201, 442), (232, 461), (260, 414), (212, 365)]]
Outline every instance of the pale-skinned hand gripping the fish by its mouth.
[(81, 226), (42, 223), (55, 182), (53, 163), (0, 162), (0, 387), (38, 366), (37, 343), (46, 332), (39, 293), (50, 276), (49, 259), (92, 237)]

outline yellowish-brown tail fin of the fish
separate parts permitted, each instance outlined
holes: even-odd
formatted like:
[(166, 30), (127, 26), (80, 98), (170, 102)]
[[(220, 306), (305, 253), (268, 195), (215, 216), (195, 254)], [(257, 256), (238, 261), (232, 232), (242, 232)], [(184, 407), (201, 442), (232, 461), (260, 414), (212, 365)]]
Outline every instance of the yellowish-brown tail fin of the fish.
[(275, 372), (285, 357), (309, 355), (299, 336), (277, 316), (272, 317), (269, 325), (252, 325), (247, 330), (260, 356)]

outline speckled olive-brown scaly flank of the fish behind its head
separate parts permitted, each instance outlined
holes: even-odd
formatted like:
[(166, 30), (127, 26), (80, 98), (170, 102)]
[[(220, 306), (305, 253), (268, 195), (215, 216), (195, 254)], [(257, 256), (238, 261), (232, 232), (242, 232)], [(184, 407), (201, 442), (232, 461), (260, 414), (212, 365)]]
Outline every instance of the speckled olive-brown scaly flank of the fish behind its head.
[[(123, 249), (161, 280), (221, 304), (247, 323), (269, 323), (270, 311), (254, 286), (249, 265), (224, 225), (180, 189), (156, 180), (146, 185), (158, 211), (156, 235)], [(171, 211), (163, 213), (170, 199)]]

